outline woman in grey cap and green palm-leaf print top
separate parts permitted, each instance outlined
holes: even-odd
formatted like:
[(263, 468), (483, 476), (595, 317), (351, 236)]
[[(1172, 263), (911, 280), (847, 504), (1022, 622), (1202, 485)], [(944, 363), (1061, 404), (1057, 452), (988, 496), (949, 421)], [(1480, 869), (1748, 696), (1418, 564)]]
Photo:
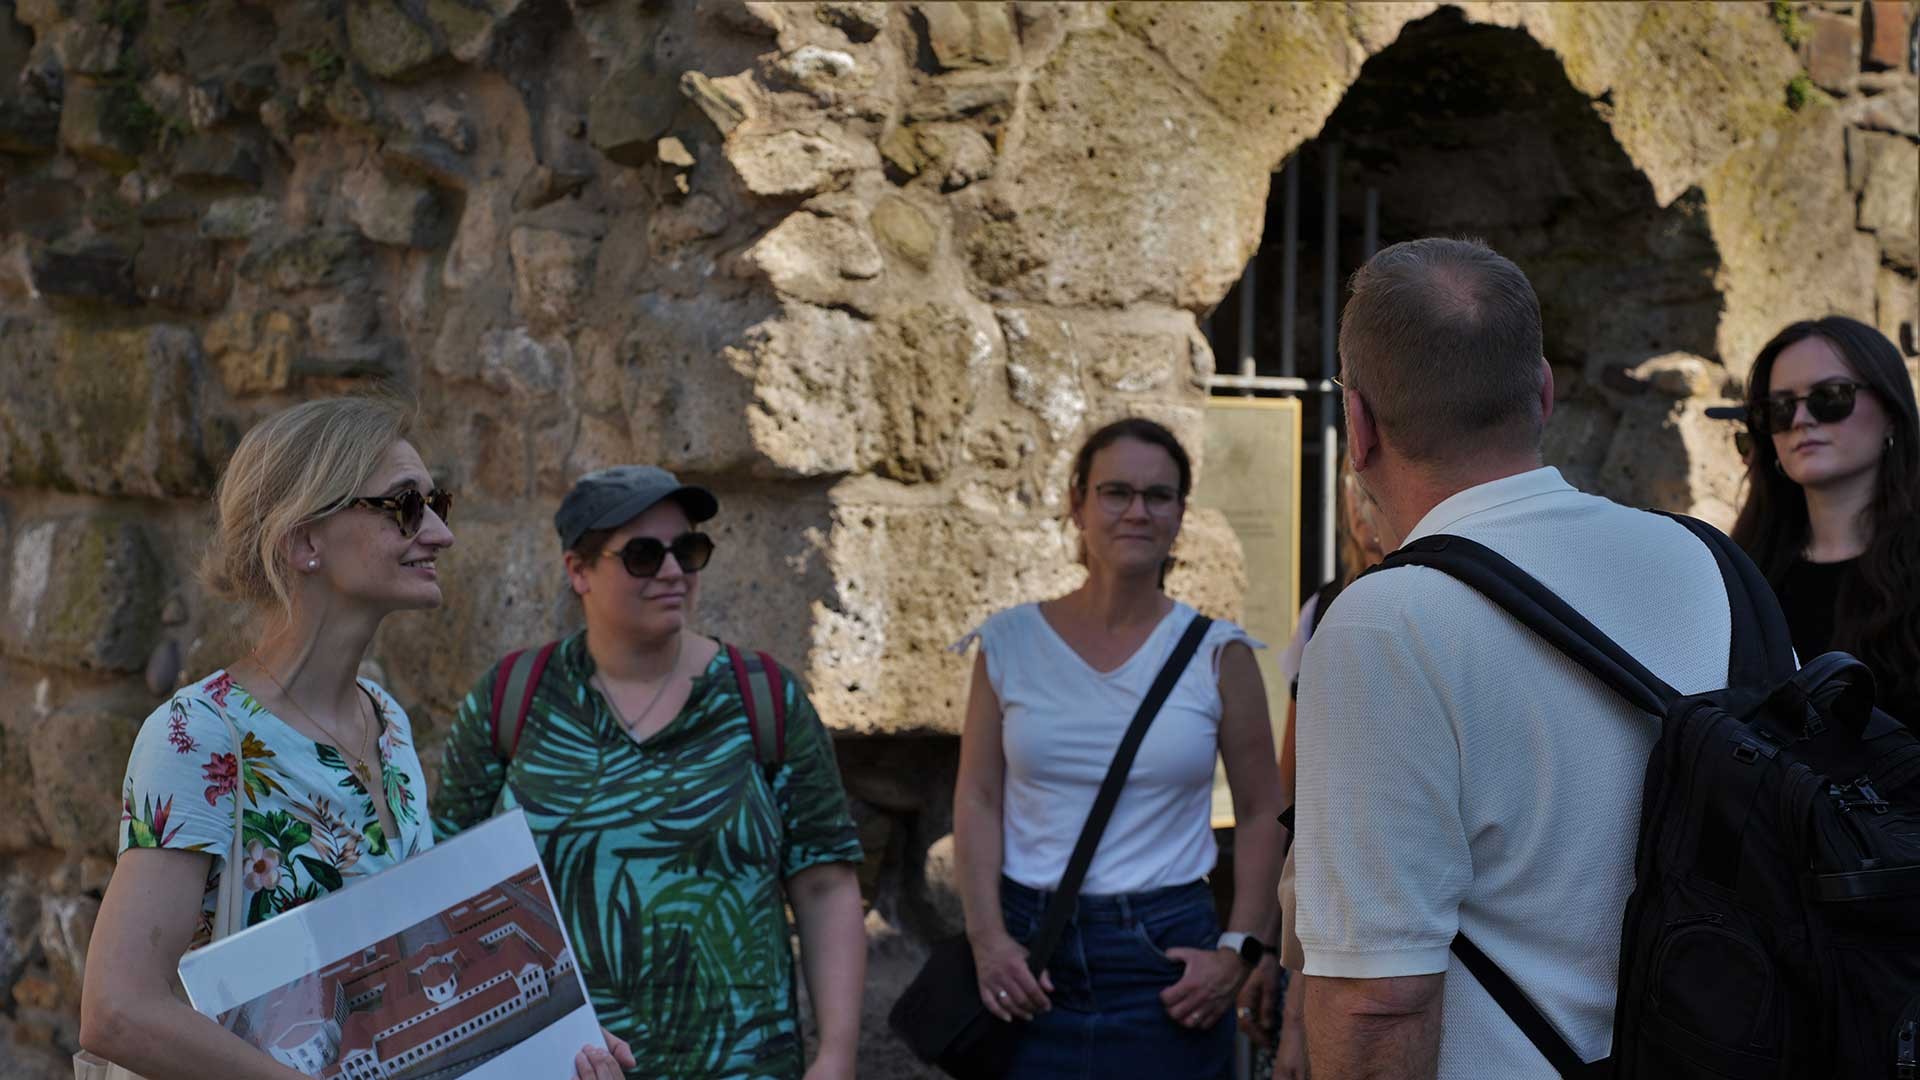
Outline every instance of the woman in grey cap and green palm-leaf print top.
[[(781, 673), (783, 761), (762, 767), (728, 651), (687, 628), (712, 553), (691, 525), (714, 509), (659, 469), (574, 486), (555, 525), (588, 628), (553, 650), (511, 761), (492, 728), (507, 673), (474, 684), (447, 738), (434, 832), (526, 811), (593, 1009), (639, 1061), (630, 1076), (852, 1076), (860, 844), (831, 740), (793, 676)], [(783, 901), (820, 1022), (812, 1068)]]

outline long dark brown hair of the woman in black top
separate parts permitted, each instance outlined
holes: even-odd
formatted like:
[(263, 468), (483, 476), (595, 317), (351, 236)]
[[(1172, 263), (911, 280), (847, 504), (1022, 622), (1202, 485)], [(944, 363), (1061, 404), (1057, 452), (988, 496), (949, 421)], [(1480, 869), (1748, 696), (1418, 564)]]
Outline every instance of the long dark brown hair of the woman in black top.
[[(1749, 407), (1766, 400), (1774, 359), (1807, 338), (1834, 346), (1893, 423), (1893, 442), (1880, 457), (1874, 500), (1864, 511), (1870, 528), (1866, 552), (1857, 563), (1859, 575), (1836, 598), (1834, 648), (1866, 661), (1884, 690), (1912, 698), (1920, 694), (1920, 407), (1893, 342), (1845, 315), (1793, 323), (1774, 334), (1747, 377)], [(1807, 492), (1780, 471), (1770, 432), (1751, 430), (1747, 503), (1734, 523), (1734, 540), (1780, 588), (1793, 559), (1812, 540)]]

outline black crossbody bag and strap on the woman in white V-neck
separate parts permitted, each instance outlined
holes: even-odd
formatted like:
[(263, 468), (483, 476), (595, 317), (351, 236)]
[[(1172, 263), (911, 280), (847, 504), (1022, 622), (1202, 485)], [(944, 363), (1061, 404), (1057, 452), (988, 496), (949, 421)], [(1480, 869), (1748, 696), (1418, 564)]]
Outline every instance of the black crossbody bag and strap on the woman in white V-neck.
[[(1035, 976), (1046, 969), (1054, 945), (1060, 944), (1060, 934), (1066, 932), (1079, 886), (1087, 880), (1087, 867), (1092, 865), (1092, 853), (1100, 847), (1106, 821), (1114, 817), (1119, 788), (1127, 782), (1127, 773), (1133, 771), (1133, 755), (1139, 753), (1148, 724), (1154, 723), (1160, 705), (1173, 692), (1173, 684), (1179, 682), (1187, 663), (1200, 648), (1200, 638), (1212, 625), (1213, 621), (1206, 615), (1194, 615), (1194, 621), (1187, 625), (1187, 634), (1173, 646), (1173, 655), (1154, 676), (1154, 686), (1140, 700), (1139, 711), (1133, 713), (1133, 724), (1127, 726), (1119, 749), (1114, 751), (1114, 763), (1106, 771), (1106, 780), (1100, 782), (1092, 811), (1087, 813), (1087, 824), (1081, 826), (1060, 888), (1046, 903), (1041, 930), (1027, 944), (1027, 969)], [(973, 970), (973, 945), (968, 944), (966, 934), (933, 944), (925, 967), (887, 1013), (887, 1026), (906, 1042), (920, 1061), (935, 1065), (958, 1080), (1000, 1080), (1006, 1076), (1020, 1042), (1020, 1026), (998, 1020), (981, 1003), (979, 976)]]

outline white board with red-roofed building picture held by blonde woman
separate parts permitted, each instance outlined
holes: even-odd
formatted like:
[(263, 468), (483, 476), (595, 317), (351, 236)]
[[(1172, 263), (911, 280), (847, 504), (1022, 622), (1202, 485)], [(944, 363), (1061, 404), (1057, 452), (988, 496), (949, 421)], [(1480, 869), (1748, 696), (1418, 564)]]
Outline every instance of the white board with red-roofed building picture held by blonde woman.
[(324, 1080), (572, 1076), (601, 1042), (518, 809), (186, 953), (180, 982)]

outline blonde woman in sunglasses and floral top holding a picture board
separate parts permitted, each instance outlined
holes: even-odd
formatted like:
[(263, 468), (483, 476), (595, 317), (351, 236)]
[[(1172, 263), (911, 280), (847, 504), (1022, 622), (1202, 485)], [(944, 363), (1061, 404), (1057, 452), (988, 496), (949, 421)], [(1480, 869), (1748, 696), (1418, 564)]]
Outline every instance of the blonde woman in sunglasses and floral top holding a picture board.
[[(244, 874), (252, 926), (432, 846), (407, 715), (357, 676), (386, 615), (440, 605), (434, 559), (453, 544), (451, 498), (407, 427), (396, 402), (309, 402), (234, 450), (202, 577), (259, 609), (261, 634), (134, 742), (88, 949), (86, 1051), (152, 1080), (301, 1076), (171, 994), (180, 953), (211, 936), (221, 874)], [(614, 1055), (630, 1061), (624, 1043), (582, 1049), (578, 1076), (618, 1076)]]

